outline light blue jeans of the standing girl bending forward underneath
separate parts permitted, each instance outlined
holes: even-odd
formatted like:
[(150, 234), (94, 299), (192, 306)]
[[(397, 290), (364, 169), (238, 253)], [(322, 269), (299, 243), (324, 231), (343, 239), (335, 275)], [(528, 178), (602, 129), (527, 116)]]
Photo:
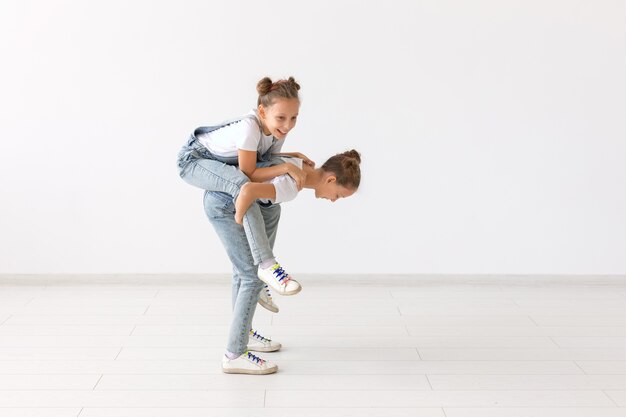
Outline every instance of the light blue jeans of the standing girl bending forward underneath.
[[(280, 205), (257, 207), (267, 233), (266, 238), (273, 248), (280, 219)], [(233, 318), (226, 350), (240, 355), (248, 350), (252, 318), (256, 311), (259, 292), (265, 284), (257, 277), (258, 266), (254, 263), (246, 233), (235, 223), (233, 198), (224, 193), (206, 191), (204, 211), (233, 264)]]

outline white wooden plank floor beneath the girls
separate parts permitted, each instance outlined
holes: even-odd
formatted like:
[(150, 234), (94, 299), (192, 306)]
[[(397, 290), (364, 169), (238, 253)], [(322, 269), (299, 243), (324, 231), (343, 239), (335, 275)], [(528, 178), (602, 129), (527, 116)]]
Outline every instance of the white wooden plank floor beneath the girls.
[(230, 285), (0, 277), (3, 417), (626, 416), (626, 280), (306, 276), (219, 368)]

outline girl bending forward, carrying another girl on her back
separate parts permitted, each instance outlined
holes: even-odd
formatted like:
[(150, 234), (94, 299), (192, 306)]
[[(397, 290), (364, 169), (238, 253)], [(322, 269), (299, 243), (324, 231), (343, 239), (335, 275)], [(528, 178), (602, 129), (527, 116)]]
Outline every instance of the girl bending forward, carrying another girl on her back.
[[(281, 163), (282, 160), (275, 158), (270, 162), (261, 162), (259, 166)], [(313, 189), (316, 197), (331, 201), (348, 197), (359, 187), (360, 163), (360, 154), (355, 150), (335, 155), (307, 176), (305, 188)], [(229, 180), (246, 184), (243, 173), (232, 168)], [(222, 370), (226, 373), (256, 375), (276, 372), (278, 367), (275, 364), (251, 352), (273, 352), (279, 350), (281, 345), (251, 329), (263, 283), (257, 279), (258, 267), (255, 265), (249, 239), (235, 220), (233, 198), (225, 193), (206, 191), (204, 208), (233, 265), (233, 319), (226, 354), (222, 358)], [(280, 219), (280, 205), (263, 204), (259, 212), (267, 240), (270, 247), (273, 247)]]

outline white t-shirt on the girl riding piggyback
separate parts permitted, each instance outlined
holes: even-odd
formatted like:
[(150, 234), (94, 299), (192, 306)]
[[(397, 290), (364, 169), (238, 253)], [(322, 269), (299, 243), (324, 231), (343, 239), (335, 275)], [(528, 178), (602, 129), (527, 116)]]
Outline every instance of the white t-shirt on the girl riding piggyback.
[(237, 157), (239, 149), (264, 154), (272, 148), (272, 153), (280, 153), (285, 140), (263, 134), (255, 110), (248, 115), (254, 117), (245, 117), (213, 132), (199, 135), (198, 141), (216, 156)]

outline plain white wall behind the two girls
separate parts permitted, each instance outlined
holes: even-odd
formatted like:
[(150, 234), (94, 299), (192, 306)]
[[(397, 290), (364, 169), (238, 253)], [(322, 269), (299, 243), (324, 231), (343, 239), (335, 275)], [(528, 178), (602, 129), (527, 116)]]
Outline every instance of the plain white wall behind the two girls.
[(0, 3), (0, 273), (226, 272), (190, 131), (302, 85), (292, 271), (626, 273), (626, 2)]

